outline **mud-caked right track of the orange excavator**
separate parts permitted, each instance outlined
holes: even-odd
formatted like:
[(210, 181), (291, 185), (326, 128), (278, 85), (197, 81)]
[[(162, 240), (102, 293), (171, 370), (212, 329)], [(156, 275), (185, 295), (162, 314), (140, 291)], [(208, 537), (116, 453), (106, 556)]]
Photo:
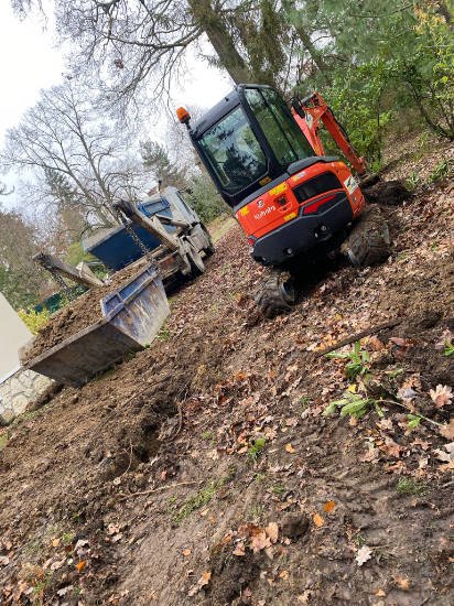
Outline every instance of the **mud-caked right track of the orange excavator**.
[(391, 253), (388, 224), (378, 206), (369, 206), (354, 225), (343, 246), (352, 263), (368, 267), (382, 263)]

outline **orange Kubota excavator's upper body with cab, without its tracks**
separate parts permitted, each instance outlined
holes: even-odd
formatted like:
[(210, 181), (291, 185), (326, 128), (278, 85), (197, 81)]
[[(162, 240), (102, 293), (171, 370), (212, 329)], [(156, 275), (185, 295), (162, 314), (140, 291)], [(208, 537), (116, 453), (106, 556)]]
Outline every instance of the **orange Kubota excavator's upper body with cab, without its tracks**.
[[(195, 125), (177, 110), (264, 266), (282, 267), (328, 241), (365, 204), (346, 164), (323, 154), (318, 120), (334, 116), (320, 96), (310, 99), (288, 105), (270, 86), (238, 85)], [(348, 154), (353, 148), (333, 123)]]

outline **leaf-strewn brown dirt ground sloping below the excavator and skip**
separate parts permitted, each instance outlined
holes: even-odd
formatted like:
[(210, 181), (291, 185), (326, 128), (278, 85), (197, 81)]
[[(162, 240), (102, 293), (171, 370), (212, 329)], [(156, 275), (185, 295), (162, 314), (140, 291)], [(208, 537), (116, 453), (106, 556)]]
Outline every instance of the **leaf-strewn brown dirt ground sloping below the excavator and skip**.
[(272, 321), (233, 227), (151, 348), (2, 430), (0, 604), (453, 604), (453, 194)]

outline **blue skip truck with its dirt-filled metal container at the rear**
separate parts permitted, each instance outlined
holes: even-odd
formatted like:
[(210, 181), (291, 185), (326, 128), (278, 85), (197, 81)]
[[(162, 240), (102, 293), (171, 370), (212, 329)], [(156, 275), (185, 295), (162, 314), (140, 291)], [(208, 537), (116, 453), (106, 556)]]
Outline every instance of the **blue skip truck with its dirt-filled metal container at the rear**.
[[(87, 251), (114, 270), (107, 281), (84, 264), (74, 268), (52, 255), (35, 256), (57, 280), (68, 278), (89, 289), (77, 300), (76, 313), (84, 313), (84, 302), (88, 303), (84, 297), (99, 293), (99, 314), (37, 355), (30, 356), (34, 342), (28, 344), (20, 354), (24, 368), (58, 382), (83, 385), (126, 354), (148, 347), (170, 313), (165, 286), (204, 272), (204, 259), (214, 252), (212, 238), (175, 187), (139, 204), (120, 201), (116, 212), (121, 225), (84, 242)], [(110, 286), (125, 272), (127, 279)]]

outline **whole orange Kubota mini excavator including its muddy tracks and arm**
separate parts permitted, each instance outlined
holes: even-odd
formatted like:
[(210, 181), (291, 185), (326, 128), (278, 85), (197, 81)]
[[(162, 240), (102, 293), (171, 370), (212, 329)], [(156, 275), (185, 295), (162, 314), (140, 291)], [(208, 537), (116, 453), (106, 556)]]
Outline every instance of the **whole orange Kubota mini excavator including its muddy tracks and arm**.
[(269, 268), (256, 295), (266, 316), (294, 303), (292, 277), (315, 252), (342, 246), (357, 266), (389, 256), (378, 207), (366, 209), (347, 165), (325, 155), (322, 125), (358, 177), (366, 176), (365, 160), (318, 93), (285, 102), (270, 86), (241, 84), (195, 125), (186, 109), (176, 113), (234, 209), (253, 259)]

